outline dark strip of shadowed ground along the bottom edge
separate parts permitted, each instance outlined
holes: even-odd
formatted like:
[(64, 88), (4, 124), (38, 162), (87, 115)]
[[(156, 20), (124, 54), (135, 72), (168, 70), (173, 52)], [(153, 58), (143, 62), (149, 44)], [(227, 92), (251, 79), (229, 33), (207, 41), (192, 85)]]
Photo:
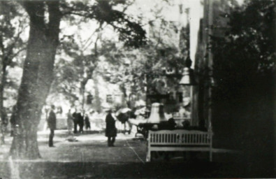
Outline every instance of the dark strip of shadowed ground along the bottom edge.
[[(1, 162), (9, 177), (8, 162)], [(240, 163), (217, 162), (17, 162), (20, 178), (273, 178), (273, 173), (248, 173)]]

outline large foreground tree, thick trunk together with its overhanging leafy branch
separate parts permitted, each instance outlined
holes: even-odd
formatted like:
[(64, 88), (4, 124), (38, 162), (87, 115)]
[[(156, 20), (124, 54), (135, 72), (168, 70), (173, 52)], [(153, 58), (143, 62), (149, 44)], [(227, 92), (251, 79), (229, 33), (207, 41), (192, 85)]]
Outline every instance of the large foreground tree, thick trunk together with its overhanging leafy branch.
[(107, 23), (119, 32), (120, 40), (126, 45), (135, 47), (145, 43), (145, 31), (137, 22), (112, 8), (124, 1), (96, 1), (92, 5), (87, 1), (71, 3), (20, 1), (20, 3), (29, 15), (30, 31), (22, 82), (13, 111), (17, 133), (13, 138), (10, 155), (16, 158), (36, 159), (41, 157), (36, 132), (41, 109), (53, 80), (61, 17), (75, 14)]

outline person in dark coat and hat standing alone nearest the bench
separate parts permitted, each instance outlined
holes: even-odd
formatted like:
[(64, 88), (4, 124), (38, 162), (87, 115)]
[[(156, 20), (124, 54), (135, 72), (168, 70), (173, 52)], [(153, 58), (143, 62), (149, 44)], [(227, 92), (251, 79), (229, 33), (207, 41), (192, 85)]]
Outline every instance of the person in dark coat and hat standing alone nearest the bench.
[(112, 110), (108, 110), (106, 115), (106, 136), (108, 137), (108, 147), (114, 147), (117, 129), (115, 127), (115, 119), (112, 117)]

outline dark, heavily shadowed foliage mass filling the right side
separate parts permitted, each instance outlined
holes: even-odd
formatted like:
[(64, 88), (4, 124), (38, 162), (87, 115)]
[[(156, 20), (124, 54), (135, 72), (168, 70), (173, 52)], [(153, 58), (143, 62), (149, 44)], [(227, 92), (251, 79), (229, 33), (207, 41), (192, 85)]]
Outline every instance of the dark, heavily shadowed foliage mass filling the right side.
[(275, 1), (246, 1), (228, 13), (225, 36), (212, 37), (215, 134), (262, 175), (275, 157), (275, 11)]

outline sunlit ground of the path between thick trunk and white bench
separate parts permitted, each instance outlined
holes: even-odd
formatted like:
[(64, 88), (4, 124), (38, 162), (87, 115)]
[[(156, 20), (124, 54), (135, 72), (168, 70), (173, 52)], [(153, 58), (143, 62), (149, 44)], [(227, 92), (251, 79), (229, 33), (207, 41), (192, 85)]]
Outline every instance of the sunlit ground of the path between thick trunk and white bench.
[(49, 162), (145, 162), (145, 142), (131, 135), (118, 134), (115, 147), (108, 148), (103, 134), (75, 136), (75, 142), (56, 138), (55, 148), (48, 148), (47, 138), (40, 138), (43, 159)]

